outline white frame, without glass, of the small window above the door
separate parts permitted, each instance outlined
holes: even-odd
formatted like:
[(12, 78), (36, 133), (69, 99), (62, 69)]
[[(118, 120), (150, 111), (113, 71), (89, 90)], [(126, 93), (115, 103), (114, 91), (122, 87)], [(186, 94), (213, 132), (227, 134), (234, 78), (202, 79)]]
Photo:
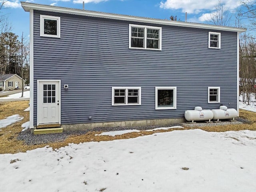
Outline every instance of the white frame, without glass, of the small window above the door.
[[(56, 35), (44, 34), (44, 19), (57, 21), (57, 34)], [(41, 37), (60, 38), (60, 17), (50, 16), (50, 15), (40, 15), (40, 36)]]

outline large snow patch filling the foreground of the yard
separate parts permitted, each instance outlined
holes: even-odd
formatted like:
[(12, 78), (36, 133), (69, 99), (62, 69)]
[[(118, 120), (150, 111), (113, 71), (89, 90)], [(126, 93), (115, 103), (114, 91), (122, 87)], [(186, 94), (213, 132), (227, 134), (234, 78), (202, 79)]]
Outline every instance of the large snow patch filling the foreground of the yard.
[[(0, 155), (3, 192), (254, 192), (256, 132), (175, 130)], [(182, 169), (183, 168), (183, 169)]]

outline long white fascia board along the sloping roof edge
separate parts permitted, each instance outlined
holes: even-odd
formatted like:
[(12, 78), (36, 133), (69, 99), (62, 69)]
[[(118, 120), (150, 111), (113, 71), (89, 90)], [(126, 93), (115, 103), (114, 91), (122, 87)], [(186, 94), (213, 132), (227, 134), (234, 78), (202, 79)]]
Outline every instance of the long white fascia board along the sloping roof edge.
[(154, 18), (146, 18), (146, 17), (128, 16), (128, 15), (121, 15), (121, 14), (88, 11), (88, 10), (82, 10), (82, 9), (34, 4), (34, 3), (28, 3), (28, 2), (21, 2), (21, 6), (26, 12), (29, 12), (30, 10), (41, 10), (41, 11), (49, 11), (49, 12), (67, 13), (67, 14), (73, 14), (73, 15), (82, 15), (82, 16), (125, 20), (125, 21), (131, 21), (131, 22), (170, 25), (170, 26), (233, 31), (233, 32), (239, 32), (239, 33), (246, 31), (246, 28), (235, 28), (235, 27), (216, 26), (216, 25), (208, 25), (208, 24), (200, 24), (200, 23), (170, 21), (170, 20), (165, 20), (165, 19), (154, 19)]

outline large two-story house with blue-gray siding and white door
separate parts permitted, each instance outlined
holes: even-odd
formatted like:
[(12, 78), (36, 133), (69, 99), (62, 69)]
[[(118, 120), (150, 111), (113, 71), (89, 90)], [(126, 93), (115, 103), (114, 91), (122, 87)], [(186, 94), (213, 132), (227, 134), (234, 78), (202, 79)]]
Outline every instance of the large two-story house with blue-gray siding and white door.
[(21, 2), (30, 12), (30, 128), (166, 125), (238, 110), (244, 28)]

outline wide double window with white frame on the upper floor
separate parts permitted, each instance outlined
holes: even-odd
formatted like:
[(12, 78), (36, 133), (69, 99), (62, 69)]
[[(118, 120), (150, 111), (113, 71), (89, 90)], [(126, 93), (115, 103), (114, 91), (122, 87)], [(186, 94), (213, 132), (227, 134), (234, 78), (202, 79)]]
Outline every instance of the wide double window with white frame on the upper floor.
[(130, 49), (162, 49), (162, 28), (129, 24)]

